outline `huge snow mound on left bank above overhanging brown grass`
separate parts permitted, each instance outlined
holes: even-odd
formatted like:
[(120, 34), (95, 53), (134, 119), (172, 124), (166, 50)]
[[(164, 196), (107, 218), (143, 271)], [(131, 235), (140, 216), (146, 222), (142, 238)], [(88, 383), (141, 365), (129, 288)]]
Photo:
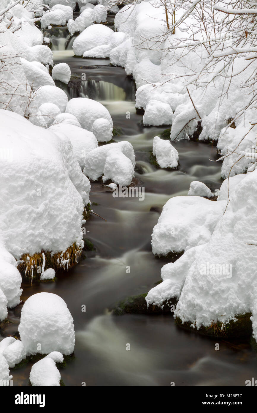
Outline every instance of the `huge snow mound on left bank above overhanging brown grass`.
[[(20, 259), (42, 250), (66, 251), (74, 242), (83, 247), (81, 222), (90, 183), (70, 140), (9, 111), (0, 110), (0, 124), (1, 146), (9, 154), (0, 159), (0, 234), (6, 249)], [(8, 306), (14, 306), (19, 304), (21, 276), (10, 263), (3, 268), (0, 288)]]

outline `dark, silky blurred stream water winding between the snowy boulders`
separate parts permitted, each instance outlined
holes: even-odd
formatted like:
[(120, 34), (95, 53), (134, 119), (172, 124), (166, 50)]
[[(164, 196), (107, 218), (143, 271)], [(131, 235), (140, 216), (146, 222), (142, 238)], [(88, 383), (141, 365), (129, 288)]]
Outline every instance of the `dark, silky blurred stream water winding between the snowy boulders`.
[[(52, 30), (52, 29), (51, 29)], [(51, 30), (47, 33), (51, 37)], [(229, 343), (208, 339), (177, 328), (172, 316), (113, 316), (110, 309), (128, 296), (149, 291), (160, 280), (160, 269), (167, 262), (151, 252), (151, 233), (161, 208), (172, 196), (186, 195), (192, 180), (219, 188), (220, 163), (215, 147), (182, 141), (174, 144), (179, 152), (179, 170), (156, 169), (149, 162), (153, 137), (165, 128), (145, 128), (136, 114), (135, 88), (120, 67), (108, 59), (72, 57), (66, 29), (54, 31), (55, 62), (71, 67), (71, 88), (57, 82), (68, 97), (90, 97), (109, 110), (114, 126), (128, 140), (137, 161), (135, 178), (145, 188), (145, 199), (114, 198), (100, 183), (92, 183), (93, 210), (107, 221), (91, 216), (86, 235), (95, 251), (54, 283), (24, 283), (21, 299), (37, 292), (58, 294), (74, 318), (75, 357), (60, 370), (67, 386), (244, 386), (255, 377), (257, 359), (247, 342)], [(82, 74), (86, 78), (80, 81)], [(85, 77), (84, 76), (84, 77)], [(77, 80), (76, 80), (77, 79)], [(130, 118), (127, 119), (127, 112)], [(140, 173), (139, 173), (140, 172)], [(64, 223), (65, 225), (65, 223)], [(130, 273), (126, 267), (130, 266)], [(82, 305), (86, 311), (81, 311)], [(9, 311), (11, 324), (3, 335), (15, 335), (22, 304)], [(220, 344), (215, 351), (215, 343)], [(126, 350), (130, 344), (130, 350)], [(11, 370), (14, 385), (28, 385), (31, 363)]]

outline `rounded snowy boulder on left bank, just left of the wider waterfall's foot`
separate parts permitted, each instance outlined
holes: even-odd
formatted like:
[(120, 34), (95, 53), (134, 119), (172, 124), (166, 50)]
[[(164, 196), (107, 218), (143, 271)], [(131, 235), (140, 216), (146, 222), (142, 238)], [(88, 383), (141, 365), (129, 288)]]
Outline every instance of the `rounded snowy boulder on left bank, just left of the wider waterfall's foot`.
[(57, 86), (41, 86), (35, 90), (35, 96), (33, 100), (38, 107), (43, 103), (53, 103), (57, 105), (61, 112), (64, 112), (68, 103), (68, 97), (66, 93), (57, 88)]

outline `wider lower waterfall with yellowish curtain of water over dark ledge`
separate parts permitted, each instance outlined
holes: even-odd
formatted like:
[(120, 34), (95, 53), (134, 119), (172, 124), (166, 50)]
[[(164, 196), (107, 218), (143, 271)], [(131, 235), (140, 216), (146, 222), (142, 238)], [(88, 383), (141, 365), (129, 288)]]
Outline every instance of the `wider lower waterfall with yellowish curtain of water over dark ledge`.
[(89, 97), (90, 99), (98, 101), (120, 101), (126, 99), (126, 93), (123, 88), (113, 83), (103, 80), (84, 80), (81, 81), (80, 97)]

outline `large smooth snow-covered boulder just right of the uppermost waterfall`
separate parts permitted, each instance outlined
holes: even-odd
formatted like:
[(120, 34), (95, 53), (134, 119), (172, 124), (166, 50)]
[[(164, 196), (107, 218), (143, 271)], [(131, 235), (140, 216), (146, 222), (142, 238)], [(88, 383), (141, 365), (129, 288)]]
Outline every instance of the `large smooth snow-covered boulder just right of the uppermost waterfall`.
[(82, 56), (84, 52), (93, 47), (106, 45), (109, 43), (113, 30), (103, 24), (92, 24), (85, 28), (80, 35), (75, 38), (73, 52), (76, 56)]

